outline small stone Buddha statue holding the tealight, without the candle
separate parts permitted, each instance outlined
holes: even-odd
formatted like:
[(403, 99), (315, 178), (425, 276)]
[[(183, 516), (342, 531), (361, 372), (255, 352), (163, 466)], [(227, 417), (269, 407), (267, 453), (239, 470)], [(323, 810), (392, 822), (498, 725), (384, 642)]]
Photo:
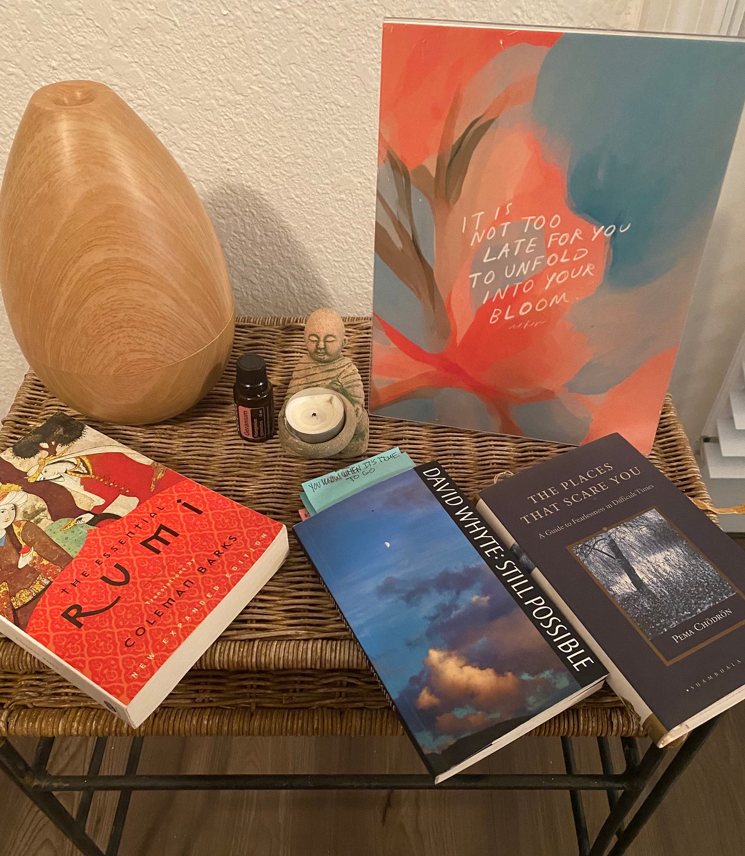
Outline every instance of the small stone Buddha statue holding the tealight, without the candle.
[[(346, 345), (344, 322), (333, 309), (316, 309), (305, 322), (305, 348), (287, 388), (279, 419), (282, 445), (305, 458), (354, 457), (367, 449), (370, 420), (364, 409), (364, 388), (357, 366), (342, 354)], [(287, 426), (287, 401), (303, 389), (330, 389), (344, 401), (345, 425), (324, 443), (305, 443)]]

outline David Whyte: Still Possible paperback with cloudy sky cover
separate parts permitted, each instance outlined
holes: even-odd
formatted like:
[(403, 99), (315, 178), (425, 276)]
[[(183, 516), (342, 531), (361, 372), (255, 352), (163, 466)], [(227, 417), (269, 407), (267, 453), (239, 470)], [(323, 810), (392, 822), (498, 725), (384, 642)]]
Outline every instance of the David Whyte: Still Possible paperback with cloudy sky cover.
[(441, 782), (605, 669), (434, 461), (294, 527)]

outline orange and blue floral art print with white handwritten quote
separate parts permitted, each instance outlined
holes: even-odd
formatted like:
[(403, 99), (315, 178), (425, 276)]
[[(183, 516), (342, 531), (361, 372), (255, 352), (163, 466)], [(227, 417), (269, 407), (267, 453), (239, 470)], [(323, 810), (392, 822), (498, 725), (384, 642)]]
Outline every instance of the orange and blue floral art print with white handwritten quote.
[(372, 411), (646, 454), (743, 97), (735, 40), (387, 22)]

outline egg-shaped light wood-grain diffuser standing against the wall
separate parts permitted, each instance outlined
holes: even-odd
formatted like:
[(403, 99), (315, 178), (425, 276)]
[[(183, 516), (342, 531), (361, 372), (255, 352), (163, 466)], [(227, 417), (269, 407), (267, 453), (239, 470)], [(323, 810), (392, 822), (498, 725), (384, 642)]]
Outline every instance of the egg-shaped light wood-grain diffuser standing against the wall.
[(234, 301), (189, 180), (108, 86), (34, 92), (0, 191), (0, 284), (42, 383), (142, 425), (191, 407), (228, 360)]

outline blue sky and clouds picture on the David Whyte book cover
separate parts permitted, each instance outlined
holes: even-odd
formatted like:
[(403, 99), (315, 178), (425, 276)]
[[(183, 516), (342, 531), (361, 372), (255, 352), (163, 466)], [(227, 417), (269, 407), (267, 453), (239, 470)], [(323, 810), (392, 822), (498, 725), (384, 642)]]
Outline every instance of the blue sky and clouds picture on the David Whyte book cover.
[(430, 760), (579, 689), (416, 471), (296, 530)]

